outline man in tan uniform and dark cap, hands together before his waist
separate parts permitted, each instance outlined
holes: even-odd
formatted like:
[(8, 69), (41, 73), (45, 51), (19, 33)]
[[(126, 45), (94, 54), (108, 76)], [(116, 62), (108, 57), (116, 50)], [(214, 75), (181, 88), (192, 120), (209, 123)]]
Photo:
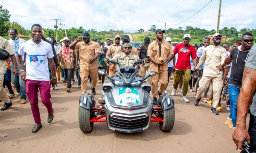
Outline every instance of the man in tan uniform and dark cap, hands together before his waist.
[[(157, 40), (148, 45), (148, 58), (150, 59), (150, 71), (157, 71), (157, 74), (151, 77), (153, 104), (157, 104), (157, 97), (166, 89), (168, 82), (168, 62), (173, 58), (172, 46), (163, 40), (164, 30), (157, 29)], [(159, 58), (162, 58), (161, 60)], [(160, 79), (160, 90), (157, 92), (157, 85)]]

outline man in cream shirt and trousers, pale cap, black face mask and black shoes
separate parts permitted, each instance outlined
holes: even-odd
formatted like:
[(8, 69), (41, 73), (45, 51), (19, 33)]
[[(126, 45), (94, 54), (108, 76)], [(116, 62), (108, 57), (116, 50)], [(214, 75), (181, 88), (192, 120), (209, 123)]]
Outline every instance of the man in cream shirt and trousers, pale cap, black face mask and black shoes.
[(212, 80), (214, 102), (210, 111), (215, 115), (218, 115), (218, 111), (216, 111), (216, 108), (220, 99), (221, 89), (223, 85), (222, 71), (219, 71), (219, 68), (221, 68), (221, 64), (224, 63), (224, 60), (226, 58), (226, 50), (220, 46), (221, 37), (222, 35), (219, 33), (213, 34), (213, 44), (204, 48), (203, 55), (199, 60), (198, 65), (195, 67), (195, 71), (198, 71), (201, 65), (203, 65), (205, 62), (203, 77), (199, 81), (199, 87), (196, 93), (196, 100), (194, 102), (194, 105), (198, 105), (201, 100), (201, 95), (208, 88), (209, 83)]

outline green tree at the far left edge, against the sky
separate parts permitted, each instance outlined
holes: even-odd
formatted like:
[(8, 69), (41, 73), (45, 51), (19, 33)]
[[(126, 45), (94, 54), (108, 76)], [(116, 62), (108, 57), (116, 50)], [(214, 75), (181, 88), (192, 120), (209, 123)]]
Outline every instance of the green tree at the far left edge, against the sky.
[(5, 36), (10, 27), (10, 17), (9, 11), (0, 5), (0, 36)]

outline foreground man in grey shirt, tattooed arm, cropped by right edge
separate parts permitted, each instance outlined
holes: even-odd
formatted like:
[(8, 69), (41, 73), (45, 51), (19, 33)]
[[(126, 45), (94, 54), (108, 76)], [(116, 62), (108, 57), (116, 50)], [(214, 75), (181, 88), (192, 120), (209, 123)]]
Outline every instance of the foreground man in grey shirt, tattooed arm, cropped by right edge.
[[(251, 40), (242, 40), (245, 42), (253, 42)], [(244, 74), (242, 79), (242, 87), (237, 99), (237, 119), (236, 129), (233, 133), (233, 141), (239, 149), (242, 148), (244, 140), (250, 143), (250, 152), (256, 152), (256, 45), (253, 45), (244, 65)], [(250, 108), (249, 129), (246, 130), (246, 116)]]

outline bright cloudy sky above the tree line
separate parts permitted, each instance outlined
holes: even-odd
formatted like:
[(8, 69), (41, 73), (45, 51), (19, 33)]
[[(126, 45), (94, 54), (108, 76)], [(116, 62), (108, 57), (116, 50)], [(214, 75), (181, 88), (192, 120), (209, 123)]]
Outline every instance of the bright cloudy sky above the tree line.
[[(34, 23), (54, 29), (55, 21), (51, 19), (61, 19), (58, 22), (64, 23), (65, 28), (135, 32), (140, 28), (147, 31), (151, 25), (164, 29), (164, 23), (166, 29), (216, 29), (219, 0), (0, 0), (0, 4), (12, 14), (11, 22), (26, 29)], [(256, 0), (222, 0), (220, 29), (255, 29), (255, 8)]]

